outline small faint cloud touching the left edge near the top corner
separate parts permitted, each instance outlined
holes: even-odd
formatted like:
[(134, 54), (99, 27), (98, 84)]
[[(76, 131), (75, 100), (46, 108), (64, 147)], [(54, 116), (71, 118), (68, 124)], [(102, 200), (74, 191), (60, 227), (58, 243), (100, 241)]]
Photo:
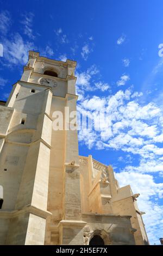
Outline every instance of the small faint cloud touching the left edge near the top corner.
[(11, 25), (10, 13), (4, 10), (0, 13), (0, 32), (2, 34), (7, 34)]

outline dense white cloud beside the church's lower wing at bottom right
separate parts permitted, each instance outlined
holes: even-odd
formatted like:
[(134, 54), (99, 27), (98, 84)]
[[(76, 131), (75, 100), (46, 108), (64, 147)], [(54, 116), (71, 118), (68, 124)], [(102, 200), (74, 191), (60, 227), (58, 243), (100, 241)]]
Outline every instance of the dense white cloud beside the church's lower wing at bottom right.
[(146, 225), (149, 242), (151, 245), (160, 244), (159, 237), (162, 237), (163, 233), (163, 206), (154, 203), (152, 199), (162, 197), (163, 184), (155, 183), (152, 175), (133, 171), (116, 173), (116, 178), (120, 182), (120, 186), (130, 184), (133, 193), (140, 193), (137, 202), (140, 211), (146, 212), (142, 217)]

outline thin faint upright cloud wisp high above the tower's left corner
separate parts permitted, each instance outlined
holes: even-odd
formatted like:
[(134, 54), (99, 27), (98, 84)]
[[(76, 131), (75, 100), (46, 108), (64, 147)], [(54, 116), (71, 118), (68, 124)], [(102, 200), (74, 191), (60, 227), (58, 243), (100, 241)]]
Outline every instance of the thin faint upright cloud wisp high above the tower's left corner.
[(30, 39), (34, 39), (35, 36), (33, 35), (33, 13), (28, 13), (26, 15), (22, 15), (23, 19), (21, 23), (24, 25), (24, 34), (27, 35)]

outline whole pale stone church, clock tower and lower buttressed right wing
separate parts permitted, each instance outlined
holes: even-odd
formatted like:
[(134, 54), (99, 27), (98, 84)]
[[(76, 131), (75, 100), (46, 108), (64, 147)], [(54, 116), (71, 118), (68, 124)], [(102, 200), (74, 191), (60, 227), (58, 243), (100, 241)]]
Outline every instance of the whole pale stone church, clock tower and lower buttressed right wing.
[(139, 194), (120, 188), (111, 166), (78, 154), (75, 68), (29, 51), (0, 101), (0, 245), (148, 244)]

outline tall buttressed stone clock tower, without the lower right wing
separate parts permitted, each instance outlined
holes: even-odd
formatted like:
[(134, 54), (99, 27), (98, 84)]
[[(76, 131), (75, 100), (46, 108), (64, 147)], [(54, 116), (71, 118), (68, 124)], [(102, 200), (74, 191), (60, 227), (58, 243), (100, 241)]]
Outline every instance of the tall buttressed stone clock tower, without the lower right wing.
[(44, 244), (48, 216), (68, 218), (72, 204), (76, 219), (80, 214), (65, 177), (72, 161), (79, 166), (77, 131), (52, 130), (54, 111), (76, 110), (75, 67), (30, 51), (21, 80), (0, 105), (1, 244)]

